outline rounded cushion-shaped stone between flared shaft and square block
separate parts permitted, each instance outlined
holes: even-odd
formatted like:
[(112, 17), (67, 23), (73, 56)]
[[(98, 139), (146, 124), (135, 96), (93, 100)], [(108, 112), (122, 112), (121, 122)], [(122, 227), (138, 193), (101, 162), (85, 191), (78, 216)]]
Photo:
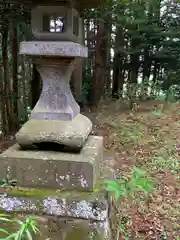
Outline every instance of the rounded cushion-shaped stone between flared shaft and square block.
[(16, 134), (16, 140), (26, 149), (34, 149), (33, 144), (51, 142), (80, 150), (91, 130), (92, 123), (81, 114), (72, 121), (30, 119)]

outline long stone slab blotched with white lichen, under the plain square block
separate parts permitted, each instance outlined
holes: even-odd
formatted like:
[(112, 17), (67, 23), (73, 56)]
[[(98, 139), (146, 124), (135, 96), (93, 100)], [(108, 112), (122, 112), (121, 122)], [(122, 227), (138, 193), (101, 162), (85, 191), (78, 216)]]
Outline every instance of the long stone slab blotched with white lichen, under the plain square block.
[(68, 201), (65, 198), (58, 198), (57, 196), (29, 198), (10, 196), (10, 194), (11, 193), (0, 196), (0, 210), (6, 212), (45, 214), (57, 217), (84, 218), (98, 221), (104, 221), (108, 216), (108, 203), (103, 198), (97, 198), (97, 200), (94, 201), (71, 199), (68, 199)]

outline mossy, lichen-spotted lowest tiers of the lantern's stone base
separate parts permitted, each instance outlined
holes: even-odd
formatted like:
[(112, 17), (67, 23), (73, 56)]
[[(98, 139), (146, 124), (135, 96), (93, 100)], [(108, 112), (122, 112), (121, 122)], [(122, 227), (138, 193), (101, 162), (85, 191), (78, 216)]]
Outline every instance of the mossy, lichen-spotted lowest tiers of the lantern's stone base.
[[(112, 197), (104, 189), (104, 180), (112, 179), (113, 171), (100, 165), (100, 176), (92, 192), (53, 189), (0, 188), (0, 212), (25, 220), (34, 216), (44, 240), (112, 240), (110, 216)], [(17, 224), (1, 227), (17, 231)], [(5, 237), (0, 233), (0, 238)]]

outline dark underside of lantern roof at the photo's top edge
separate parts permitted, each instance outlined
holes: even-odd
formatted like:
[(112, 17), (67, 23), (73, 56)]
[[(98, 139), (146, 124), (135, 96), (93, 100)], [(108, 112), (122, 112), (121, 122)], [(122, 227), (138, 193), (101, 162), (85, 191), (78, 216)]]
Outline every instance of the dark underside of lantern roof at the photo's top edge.
[(22, 5), (37, 6), (37, 5), (67, 5), (72, 4), (77, 9), (97, 8), (105, 4), (106, 0), (12, 0)]

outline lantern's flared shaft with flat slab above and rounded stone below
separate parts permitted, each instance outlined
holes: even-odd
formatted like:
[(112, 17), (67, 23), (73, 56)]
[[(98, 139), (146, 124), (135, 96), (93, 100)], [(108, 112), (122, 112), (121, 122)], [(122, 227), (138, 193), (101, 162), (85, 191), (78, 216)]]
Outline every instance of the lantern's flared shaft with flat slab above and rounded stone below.
[(92, 123), (80, 114), (69, 81), (76, 57), (85, 57), (87, 48), (73, 42), (22, 42), (20, 53), (34, 58), (43, 88), (31, 119), (16, 134), (17, 142), (30, 149), (41, 142), (81, 149)]

